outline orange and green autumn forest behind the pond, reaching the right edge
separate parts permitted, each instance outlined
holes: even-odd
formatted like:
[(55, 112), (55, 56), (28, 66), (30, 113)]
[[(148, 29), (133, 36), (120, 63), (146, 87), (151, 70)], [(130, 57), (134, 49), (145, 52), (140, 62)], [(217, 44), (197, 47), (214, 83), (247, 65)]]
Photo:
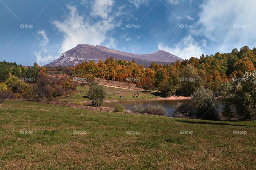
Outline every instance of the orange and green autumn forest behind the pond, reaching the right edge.
[(244, 46), (233, 49), (231, 53), (202, 54), (199, 59), (191, 57), (170, 65), (152, 63), (148, 68), (137, 65), (135, 61), (114, 60), (105, 62), (83, 62), (73, 68), (71, 74), (93, 80), (105, 78), (119, 82), (131, 82), (146, 91), (158, 89), (172, 95), (175, 93), (191, 95), (200, 86), (209, 88), (214, 95), (219, 95), (221, 84), (227, 80), (240, 79), (247, 72), (251, 73), (256, 65), (256, 48)]

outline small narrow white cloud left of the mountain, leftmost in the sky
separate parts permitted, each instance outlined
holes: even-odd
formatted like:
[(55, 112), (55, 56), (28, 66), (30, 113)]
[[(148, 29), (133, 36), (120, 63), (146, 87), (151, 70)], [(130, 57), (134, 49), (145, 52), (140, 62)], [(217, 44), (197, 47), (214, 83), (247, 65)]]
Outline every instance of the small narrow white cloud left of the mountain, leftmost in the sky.
[[(37, 58), (37, 64), (42, 66), (54, 60), (55, 56), (53, 55), (53, 51), (47, 47), (49, 39), (47, 38), (46, 32), (44, 30), (40, 30), (37, 33), (39, 36), (38, 39), (41, 43), (39, 44), (39, 50), (35, 51), (34, 54)], [(41, 37), (43, 38), (42, 40)]]

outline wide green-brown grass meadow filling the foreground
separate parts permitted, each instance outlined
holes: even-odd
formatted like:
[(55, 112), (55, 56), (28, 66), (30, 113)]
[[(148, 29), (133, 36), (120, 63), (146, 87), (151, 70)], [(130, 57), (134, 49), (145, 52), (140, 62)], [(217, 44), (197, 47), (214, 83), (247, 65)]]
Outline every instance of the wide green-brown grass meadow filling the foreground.
[(0, 169), (256, 169), (255, 121), (198, 121), (9, 100)]

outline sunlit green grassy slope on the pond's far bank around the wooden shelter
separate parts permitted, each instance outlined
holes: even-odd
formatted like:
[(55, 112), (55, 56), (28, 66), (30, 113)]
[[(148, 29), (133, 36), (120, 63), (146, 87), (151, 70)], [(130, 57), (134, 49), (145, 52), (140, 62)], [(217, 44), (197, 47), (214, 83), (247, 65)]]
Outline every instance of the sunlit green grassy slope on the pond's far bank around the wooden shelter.
[[(104, 86), (107, 92), (111, 92), (112, 94), (107, 95), (106, 100), (139, 100), (139, 99), (155, 99), (158, 96), (155, 96), (151, 94), (150, 92), (144, 92), (144, 91), (138, 91), (139, 97), (133, 97), (134, 93), (136, 91), (134, 90), (128, 90), (128, 89), (122, 89), (122, 88), (114, 88), (114, 87), (106, 87)], [(67, 102), (75, 102), (77, 100), (79, 101), (86, 101), (89, 100), (89, 98), (86, 96), (87, 92), (89, 90), (89, 86), (78, 86), (77, 90), (74, 92), (74, 94), (69, 96), (69, 94), (66, 94), (64, 97), (61, 96), (57, 99), (60, 99), (62, 101)], [(117, 94), (117, 92), (121, 92), (121, 94)], [(115, 93), (115, 94), (114, 94)], [(124, 95), (125, 97), (120, 97), (120, 95)]]

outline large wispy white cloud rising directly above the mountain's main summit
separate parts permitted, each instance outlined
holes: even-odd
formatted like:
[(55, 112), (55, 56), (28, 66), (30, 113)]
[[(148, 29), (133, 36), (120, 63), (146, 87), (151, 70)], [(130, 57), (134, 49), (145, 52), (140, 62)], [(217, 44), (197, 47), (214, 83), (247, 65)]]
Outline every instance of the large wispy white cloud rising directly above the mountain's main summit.
[[(97, 2), (100, 4), (101, 1)], [(103, 6), (105, 3), (102, 3)], [(63, 33), (63, 41), (61, 44), (60, 53), (66, 52), (71, 48), (74, 48), (78, 44), (90, 44), (90, 45), (113, 45), (113, 39), (108, 36), (107, 33), (113, 30), (115, 27), (118, 27), (120, 23), (115, 21), (116, 13), (111, 13), (109, 9), (110, 4), (103, 8), (102, 6), (99, 9), (102, 10), (102, 13), (99, 14), (99, 10), (94, 10), (94, 16), (101, 16), (103, 19), (98, 20), (97, 22), (91, 22), (90, 19), (85, 19), (86, 17), (78, 15), (77, 8), (74, 6), (67, 6), (70, 10), (70, 14), (63, 20), (53, 22), (53, 25), (57, 30)], [(110, 44), (108, 44), (110, 43)]]

